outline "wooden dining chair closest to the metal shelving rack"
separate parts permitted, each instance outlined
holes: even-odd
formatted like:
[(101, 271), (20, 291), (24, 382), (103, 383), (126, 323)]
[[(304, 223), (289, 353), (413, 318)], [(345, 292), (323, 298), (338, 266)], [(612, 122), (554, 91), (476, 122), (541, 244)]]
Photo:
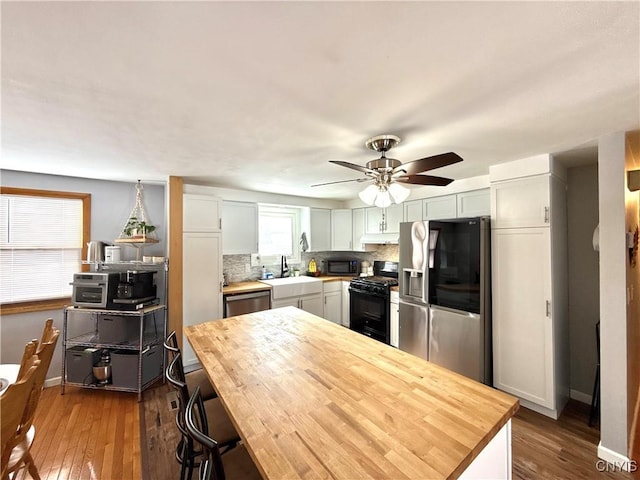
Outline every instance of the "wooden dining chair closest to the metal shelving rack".
[[(22, 420), (18, 427), (16, 444), (11, 452), (11, 457), (7, 465), (7, 473), (16, 472), (24, 466), (32, 478), (36, 480), (40, 478), (38, 469), (30, 453), (36, 434), (33, 420), (36, 415), (36, 409), (40, 402), (40, 395), (42, 394), (44, 381), (46, 379), (47, 372), (49, 371), (49, 366), (51, 365), (51, 359), (53, 358), (53, 352), (55, 351), (59, 336), (60, 331), (53, 328), (53, 320), (48, 319), (45, 324), (42, 343), (40, 343), (36, 349), (36, 356), (40, 361), (40, 365), (34, 373), (33, 389), (27, 398)], [(37, 344), (37, 340), (29, 342), (25, 347), (25, 351), (31, 351), (34, 343)]]

